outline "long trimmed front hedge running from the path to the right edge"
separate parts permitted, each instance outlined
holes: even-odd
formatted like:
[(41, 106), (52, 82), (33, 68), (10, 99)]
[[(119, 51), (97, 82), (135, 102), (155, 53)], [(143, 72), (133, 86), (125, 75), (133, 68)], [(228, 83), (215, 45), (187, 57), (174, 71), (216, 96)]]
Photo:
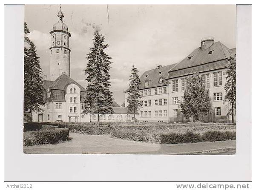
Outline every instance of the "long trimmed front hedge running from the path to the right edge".
[(201, 141), (225, 141), (235, 140), (235, 131), (206, 131), (202, 134), (195, 133), (192, 130), (187, 130), (185, 133), (174, 133), (168, 131), (153, 131), (135, 130), (135, 129), (113, 129), (111, 130), (111, 137), (121, 139), (161, 143), (161, 144), (177, 144), (187, 142), (201, 142)]

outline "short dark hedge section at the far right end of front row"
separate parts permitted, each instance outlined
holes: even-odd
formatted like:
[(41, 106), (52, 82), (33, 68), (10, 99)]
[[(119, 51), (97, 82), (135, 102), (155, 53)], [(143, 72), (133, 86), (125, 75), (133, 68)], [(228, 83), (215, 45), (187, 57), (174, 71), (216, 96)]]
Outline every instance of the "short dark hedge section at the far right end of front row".
[(235, 131), (206, 131), (201, 136), (202, 141), (227, 141), (235, 140)]

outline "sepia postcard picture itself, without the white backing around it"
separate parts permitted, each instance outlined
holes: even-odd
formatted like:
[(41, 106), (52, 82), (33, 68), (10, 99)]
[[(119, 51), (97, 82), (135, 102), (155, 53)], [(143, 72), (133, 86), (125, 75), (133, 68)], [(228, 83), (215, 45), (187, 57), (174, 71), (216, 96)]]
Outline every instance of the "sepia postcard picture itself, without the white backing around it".
[(24, 153), (236, 152), (235, 5), (26, 5), (24, 32)]

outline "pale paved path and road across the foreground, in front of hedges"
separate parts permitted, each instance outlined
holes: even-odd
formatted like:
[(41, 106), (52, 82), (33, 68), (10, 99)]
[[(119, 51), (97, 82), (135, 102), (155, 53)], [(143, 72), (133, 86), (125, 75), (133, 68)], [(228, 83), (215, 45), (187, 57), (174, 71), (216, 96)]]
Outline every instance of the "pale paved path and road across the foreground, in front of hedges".
[(43, 154), (182, 154), (236, 147), (236, 141), (197, 142), (184, 144), (151, 144), (135, 142), (110, 135), (69, 133), (72, 139), (54, 145), (24, 147), (24, 153)]

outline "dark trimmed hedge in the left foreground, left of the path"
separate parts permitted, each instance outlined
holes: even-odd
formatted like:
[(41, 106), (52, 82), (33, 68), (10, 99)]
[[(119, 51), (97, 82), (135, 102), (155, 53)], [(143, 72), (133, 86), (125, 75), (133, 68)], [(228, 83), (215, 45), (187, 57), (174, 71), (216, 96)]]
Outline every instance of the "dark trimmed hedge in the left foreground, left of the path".
[(24, 133), (23, 145), (53, 144), (66, 141), (69, 137), (69, 129), (55, 128), (53, 130), (36, 130)]

